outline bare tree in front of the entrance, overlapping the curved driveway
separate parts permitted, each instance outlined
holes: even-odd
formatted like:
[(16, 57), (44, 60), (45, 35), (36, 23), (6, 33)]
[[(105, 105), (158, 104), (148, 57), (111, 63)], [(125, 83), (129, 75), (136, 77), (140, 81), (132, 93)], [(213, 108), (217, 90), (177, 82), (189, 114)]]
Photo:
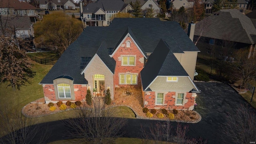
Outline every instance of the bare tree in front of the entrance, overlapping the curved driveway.
[(112, 142), (112, 138), (122, 136), (126, 119), (116, 117), (116, 113), (105, 106), (101, 97), (94, 97), (92, 107), (80, 107), (78, 118), (70, 118), (64, 122), (69, 128), (68, 135), (78, 138), (79, 142), (89, 141), (96, 144)]

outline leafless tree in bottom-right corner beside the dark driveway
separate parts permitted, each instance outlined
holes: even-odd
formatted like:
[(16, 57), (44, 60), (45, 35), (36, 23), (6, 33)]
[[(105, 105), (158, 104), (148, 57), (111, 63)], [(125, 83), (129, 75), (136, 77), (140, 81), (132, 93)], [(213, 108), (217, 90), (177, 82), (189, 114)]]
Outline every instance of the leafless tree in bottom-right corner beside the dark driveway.
[(226, 137), (236, 144), (250, 144), (256, 141), (256, 115), (255, 109), (247, 105), (236, 108), (235, 114), (228, 114), (226, 123), (222, 126), (224, 142)]

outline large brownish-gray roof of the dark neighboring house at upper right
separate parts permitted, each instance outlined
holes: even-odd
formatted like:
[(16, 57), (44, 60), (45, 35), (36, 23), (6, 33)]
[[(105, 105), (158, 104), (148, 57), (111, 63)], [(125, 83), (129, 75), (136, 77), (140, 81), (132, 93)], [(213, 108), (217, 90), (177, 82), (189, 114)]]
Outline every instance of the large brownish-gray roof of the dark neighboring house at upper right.
[(256, 35), (256, 29), (250, 18), (237, 9), (220, 10), (216, 15), (208, 16), (196, 24), (195, 35), (200, 35), (200, 27), (208, 25), (204, 37), (255, 44), (251, 35)]

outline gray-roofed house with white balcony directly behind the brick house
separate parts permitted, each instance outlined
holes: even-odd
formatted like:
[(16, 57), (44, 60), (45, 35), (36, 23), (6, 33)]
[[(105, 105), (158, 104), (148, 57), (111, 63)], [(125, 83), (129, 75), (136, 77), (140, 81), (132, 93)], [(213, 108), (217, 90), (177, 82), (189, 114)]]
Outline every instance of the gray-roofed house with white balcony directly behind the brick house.
[(130, 4), (125, 4), (122, 0), (98, 0), (84, 8), (80, 6), (80, 9), (83, 10), (82, 20), (87, 26), (108, 26), (114, 14), (133, 10)]

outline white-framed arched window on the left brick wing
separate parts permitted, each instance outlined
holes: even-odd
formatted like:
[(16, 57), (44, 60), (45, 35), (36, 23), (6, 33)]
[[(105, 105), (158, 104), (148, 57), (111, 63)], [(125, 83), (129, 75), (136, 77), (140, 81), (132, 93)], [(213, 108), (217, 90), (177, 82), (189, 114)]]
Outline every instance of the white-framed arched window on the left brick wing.
[(58, 84), (58, 95), (59, 98), (71, 98), (71, 91), (69, 84)]

